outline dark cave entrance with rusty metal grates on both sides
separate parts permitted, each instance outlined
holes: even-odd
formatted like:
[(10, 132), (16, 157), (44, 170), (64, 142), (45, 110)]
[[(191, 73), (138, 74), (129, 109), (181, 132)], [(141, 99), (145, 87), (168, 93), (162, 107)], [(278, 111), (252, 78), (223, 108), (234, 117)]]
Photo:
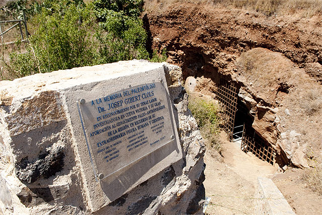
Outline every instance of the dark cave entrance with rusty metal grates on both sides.
[(245, 153), (251, 152), (259, 159), (274, 165), (276, 152), (252, 128), (254, 119), (248, 114), (246, 105), (238, 99), (238, 91), (234, 82), (224, 78), (220, 79), (215, 91), (228, 139), (239, 143), (240, 149)]

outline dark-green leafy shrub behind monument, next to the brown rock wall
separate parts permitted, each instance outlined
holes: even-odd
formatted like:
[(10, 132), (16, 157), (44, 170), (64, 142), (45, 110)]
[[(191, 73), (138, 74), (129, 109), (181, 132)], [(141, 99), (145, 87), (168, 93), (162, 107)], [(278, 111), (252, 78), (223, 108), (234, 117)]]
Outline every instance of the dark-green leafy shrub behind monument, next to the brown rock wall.
[(102, 28), (96, 34), (101, 63), (148, 58), (145, 49), (147, 34), (139, 19), (143, 1), (96, 0), (93, 5)]

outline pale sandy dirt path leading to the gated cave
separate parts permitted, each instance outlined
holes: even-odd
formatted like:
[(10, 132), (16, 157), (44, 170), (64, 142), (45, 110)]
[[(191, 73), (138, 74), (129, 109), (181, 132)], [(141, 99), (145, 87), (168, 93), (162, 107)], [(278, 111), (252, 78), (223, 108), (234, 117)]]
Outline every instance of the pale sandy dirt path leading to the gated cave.
[(225, 140), (221, 134), (223, 159), (206, 152), (204, 186), (211, 197), (206, 214), (253, 214), (257, 177), (272, 177), (277, 168), (239, 149), (237, 143)]

